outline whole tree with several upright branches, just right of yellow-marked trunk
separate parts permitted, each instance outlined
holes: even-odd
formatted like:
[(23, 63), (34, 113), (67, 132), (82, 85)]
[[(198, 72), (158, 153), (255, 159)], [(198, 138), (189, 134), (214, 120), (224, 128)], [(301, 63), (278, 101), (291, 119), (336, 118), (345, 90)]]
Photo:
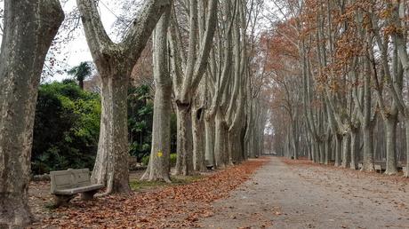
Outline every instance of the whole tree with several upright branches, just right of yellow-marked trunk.
[[(213, 35), (217, 24), (217, 0), (207, 2), (205, 15), (205, 32), (197, 36), (197, 0), (188, 5), (188, 55), (182, 45), (176, 12), (172, 9), (171, 23), (171, 66), (172, 86), (178, 117), (177, 162), (176, 174), (189, 175), (193, 171), (192, 146), (192, 99), (202, 76), (205, 74), (207, 60), (212, 49)], [(198, 48), (198, 49), (197, 49)]]

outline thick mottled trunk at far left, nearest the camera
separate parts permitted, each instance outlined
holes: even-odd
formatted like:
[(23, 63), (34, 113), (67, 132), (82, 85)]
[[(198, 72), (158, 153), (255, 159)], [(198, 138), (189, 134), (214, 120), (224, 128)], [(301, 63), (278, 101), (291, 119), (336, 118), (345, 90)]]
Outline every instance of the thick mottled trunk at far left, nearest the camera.
[(37, 88), (63, 16), (58, 1), (4, 2), (0, 54), (0, 228), (23, 228), (28, 208)]

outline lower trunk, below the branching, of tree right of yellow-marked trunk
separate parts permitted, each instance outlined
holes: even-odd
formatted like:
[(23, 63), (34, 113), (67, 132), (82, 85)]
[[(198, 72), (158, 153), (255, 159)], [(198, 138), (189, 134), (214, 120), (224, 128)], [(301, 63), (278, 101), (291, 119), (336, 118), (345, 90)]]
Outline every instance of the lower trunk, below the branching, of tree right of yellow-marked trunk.
[(178, 134), (175, 175), (188, 176), (193, 172), (192, 116), (190, 104), (177, 103)]

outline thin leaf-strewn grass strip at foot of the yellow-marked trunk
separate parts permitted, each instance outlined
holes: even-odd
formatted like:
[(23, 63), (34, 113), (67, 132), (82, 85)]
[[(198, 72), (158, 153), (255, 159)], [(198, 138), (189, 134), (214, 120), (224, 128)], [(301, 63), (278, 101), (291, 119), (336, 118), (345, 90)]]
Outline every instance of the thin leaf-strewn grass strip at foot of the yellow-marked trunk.
[(151, 190), (156, 189), (158, 187), (164, 186), (182, 186), (193, 183), (197, 180), (205, 178), (202, 175), (194, 175), (188, 177), (182, 176), (171, 176), (172, 183), (166, 183), (164, 181), (144, 181), (144, 180), (132, 180), (129, 185), (131, 186), (133, 191), (143, 191), (143, 190)]

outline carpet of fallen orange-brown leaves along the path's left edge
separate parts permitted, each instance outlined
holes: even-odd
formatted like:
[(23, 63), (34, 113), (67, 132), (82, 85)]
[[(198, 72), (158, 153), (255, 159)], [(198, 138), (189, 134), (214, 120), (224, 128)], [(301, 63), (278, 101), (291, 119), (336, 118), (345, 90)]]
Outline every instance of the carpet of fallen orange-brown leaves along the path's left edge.
[(213, 215), (212, 201), (226, 197), (268, 161), (266, 158), (250, 160), (188, 185), (111, 195), (94, 201), (73, 201), (68, 208), (55, 209), (52, 217), (43, 219), (41, 227), (196, 227), (201, 217)]

